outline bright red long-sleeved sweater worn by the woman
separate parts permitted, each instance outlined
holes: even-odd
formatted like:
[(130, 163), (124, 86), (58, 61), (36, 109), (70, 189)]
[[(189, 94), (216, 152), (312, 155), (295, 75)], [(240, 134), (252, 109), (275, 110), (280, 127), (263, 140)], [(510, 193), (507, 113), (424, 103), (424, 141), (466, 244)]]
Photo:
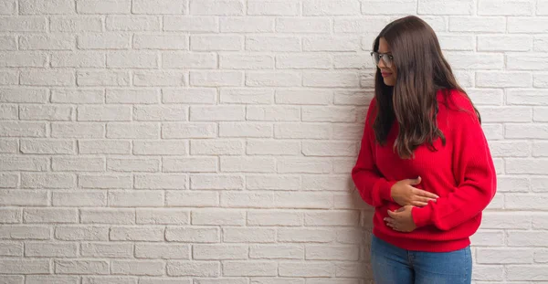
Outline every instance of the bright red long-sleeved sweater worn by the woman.
[[(432, 252), (467, 247), (469, 237), (479, 227), (482, 210), (495, 194), (495, 168), (478, 117), (460, 92), (451, 91), (449, 99), (447, 108), (438, 91), (437, 127), (446, 137), (445, 146), (441, 139), (434, 142), (437, 152), (421, 145), (412, 159), (401, 159), (393, 150), (399, 129), (396, 122), (384, 146), (375, 142), (375, 100), (367, 111), (353, 182), (364, 201), (374, 206), (374, 235), (396, 247)], [(383, 221), (387, 210), (401, 207), (392, 199), (390, 188), (397, 181), (419, 175), (422, 182), (415, 187), (439, 198), (425, 207), (413, 208), (417, 226), (413, 232), (397, 232)]]

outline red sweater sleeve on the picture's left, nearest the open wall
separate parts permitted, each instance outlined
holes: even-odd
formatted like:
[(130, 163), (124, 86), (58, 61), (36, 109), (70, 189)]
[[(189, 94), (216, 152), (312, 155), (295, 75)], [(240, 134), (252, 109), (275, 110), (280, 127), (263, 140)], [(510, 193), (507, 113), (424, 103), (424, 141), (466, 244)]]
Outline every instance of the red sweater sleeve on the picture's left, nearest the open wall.
[(365, 118), (364, 135), (358, 159), (352, 170), (353, 183), (364, 201), (372, 206), (384, 205), (386, 201), (392, 201), (390, 189), (395, 184), (393, 181), (387, 181), (378, 171), (374, 163), (374, 131), (373, 131), (373, 113), (376, 101), (373, 99), (369, 104), (367, 116)]

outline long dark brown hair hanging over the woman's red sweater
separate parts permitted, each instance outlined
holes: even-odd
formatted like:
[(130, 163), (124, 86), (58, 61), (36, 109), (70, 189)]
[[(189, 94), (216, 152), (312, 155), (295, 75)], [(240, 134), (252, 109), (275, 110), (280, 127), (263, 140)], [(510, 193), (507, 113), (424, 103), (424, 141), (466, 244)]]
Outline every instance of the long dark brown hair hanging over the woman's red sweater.
[[(458, 86), (448, 61), (443, 57), (436, 33), (417, 16), (406, 16), (385, 26), (374, 40), (378, 51), (379, 39), (384, 37), (390, 46), (395, 67), (395, 86), (387, 86), (377, 68), (374, 97), (377, 101), (374, 133), (377, 142), (384, 144), (394, 120), (400, 131), (395, 140), (395, 152), (402, 158), (410, 158), (416, 147), (427, 142), (436, 151), (434, 141), (439, 138), (445, 144), (444, 134), (437, 128), (437, 90), (449, 90)], [(448, 101), (448, 100), (445, 100)], [(471, 101), (470, 101), (471, 102)], [(479, 112), (474, 107), (479, 117)]]

